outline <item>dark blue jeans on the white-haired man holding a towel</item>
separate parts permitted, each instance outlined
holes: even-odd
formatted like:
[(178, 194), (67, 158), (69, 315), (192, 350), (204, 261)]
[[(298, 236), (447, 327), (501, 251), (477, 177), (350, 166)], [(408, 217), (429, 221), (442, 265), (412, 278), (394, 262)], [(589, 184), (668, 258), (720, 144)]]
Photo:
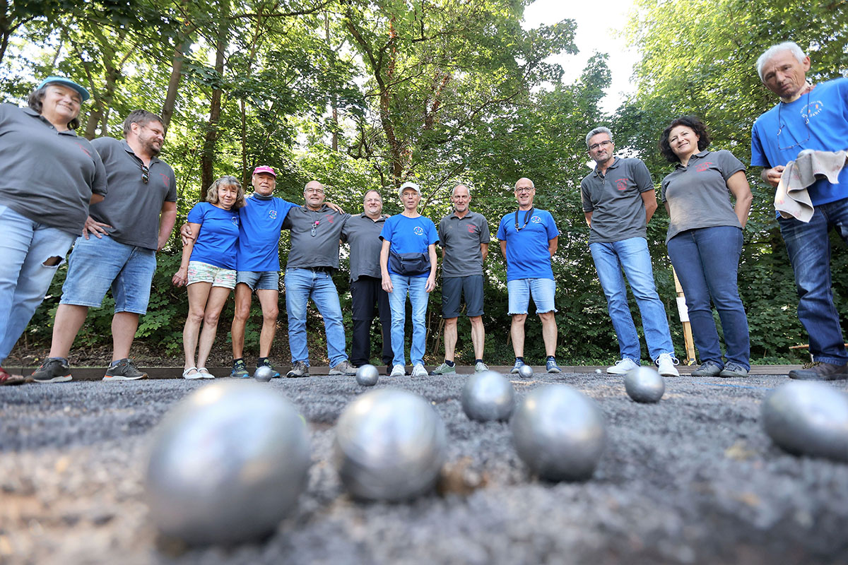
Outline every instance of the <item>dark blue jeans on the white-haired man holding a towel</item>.
[(780, 218), (778, 223), (795, 271), (798, 319), (810, 334), (810, 354), (816, 361), (845, 365), (848, 356), (830, 287), (828, 232), (835, 227), (848, 242), (848, 198), (817, 205), (809, 224), (794, 218)]

